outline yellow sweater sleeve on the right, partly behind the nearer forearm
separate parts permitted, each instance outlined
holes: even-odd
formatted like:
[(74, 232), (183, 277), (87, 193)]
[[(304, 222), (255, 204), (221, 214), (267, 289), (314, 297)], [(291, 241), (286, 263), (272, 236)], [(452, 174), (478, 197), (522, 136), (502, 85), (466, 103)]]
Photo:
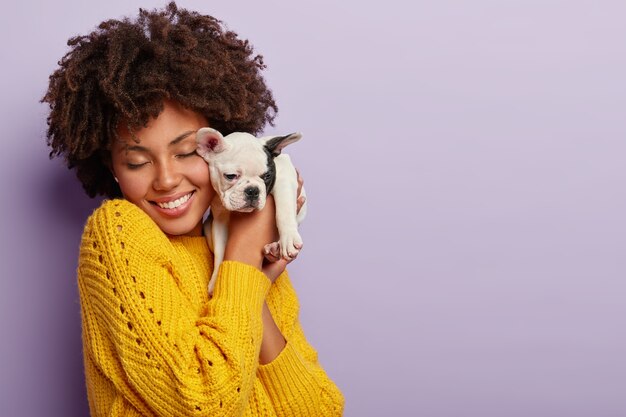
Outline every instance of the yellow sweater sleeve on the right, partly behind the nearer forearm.
[(299, 303), (287, 273), (268, 297), (270, 310), (287, 344), (270, 363), (260, 365), (259, 379), (279, 416), (341, 416), (344, 397), (318, 362), (300, 320)]

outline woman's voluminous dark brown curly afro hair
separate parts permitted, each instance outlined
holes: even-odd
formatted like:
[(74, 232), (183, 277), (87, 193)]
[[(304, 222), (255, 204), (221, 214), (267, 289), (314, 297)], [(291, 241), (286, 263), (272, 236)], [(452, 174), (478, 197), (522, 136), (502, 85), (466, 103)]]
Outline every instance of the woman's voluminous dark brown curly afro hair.
[(221, 21), (179, 9), (139, 9), (135, 20), (107, 20), (50, 76), (50, 158), (63, 156), (90, 197), (121, 197), (109, 170), (118, 123), (139, 130), (174, 100), (224, 134), (259, 133), (278, 111), (261, 71), (263, 57)]

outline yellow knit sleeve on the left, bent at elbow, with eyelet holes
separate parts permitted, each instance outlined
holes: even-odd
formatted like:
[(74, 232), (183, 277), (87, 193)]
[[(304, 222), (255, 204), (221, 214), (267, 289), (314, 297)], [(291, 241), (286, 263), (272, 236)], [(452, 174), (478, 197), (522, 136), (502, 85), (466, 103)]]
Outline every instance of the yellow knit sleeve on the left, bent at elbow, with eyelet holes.
[(129, 202), (88, 220), (79, 257), (85, 354), (142, 414), (241, 415), (262, 341), (270, 281), (224, 262), (213, 298), (194, 307), (176, 283), (167, 237)]

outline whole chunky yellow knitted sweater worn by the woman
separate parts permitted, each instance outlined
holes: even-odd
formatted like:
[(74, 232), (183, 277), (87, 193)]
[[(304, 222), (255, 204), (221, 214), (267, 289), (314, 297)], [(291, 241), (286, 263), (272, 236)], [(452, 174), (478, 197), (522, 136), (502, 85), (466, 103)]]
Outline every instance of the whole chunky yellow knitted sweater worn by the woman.
[[(91, 215), (78, 265), (91, 415), (341, 415), (288, 275), (224, 262), (209, 300), (212, 269), (203, 237), (168, 237), (130, 202)], [(287, 345), (260, 365), (264, 300)]]

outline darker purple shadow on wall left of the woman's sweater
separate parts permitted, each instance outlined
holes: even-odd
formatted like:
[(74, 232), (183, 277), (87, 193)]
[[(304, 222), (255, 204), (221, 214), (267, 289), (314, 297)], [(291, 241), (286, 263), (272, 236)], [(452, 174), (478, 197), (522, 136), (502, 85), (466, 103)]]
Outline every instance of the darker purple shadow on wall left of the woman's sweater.
[(59, 165), (44, 181), (40, 179), (43, 189), (35, 193), (38, 207), (46, 207), (41, 225), (46, 230), (43, 245), (48, 246), (45, 253), (54, 278), (46, 284), (50, 286), (46, 304), (51, 316), (45, 325), (50, 327), (46, 344), (54, 352), (56, 364), (49, 367), (54, 380), (46, 385), (50, 386), (49, 403), (56, 403), (63, 415), (87, 416), (76, 267), (85, 221), (102, 199), (89, 198), (74, 172)]

